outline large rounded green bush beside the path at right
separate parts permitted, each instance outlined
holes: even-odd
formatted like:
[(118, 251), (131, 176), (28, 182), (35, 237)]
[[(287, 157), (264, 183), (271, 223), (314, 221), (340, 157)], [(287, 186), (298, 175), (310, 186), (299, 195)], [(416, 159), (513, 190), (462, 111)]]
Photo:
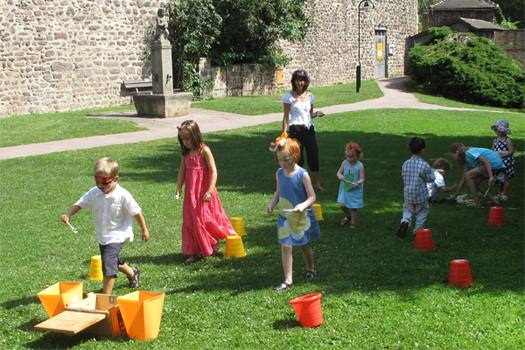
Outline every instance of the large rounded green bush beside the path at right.
[(434, 37), (409, 53), (410, 76), (437, 95), (496, 107), (525, 107), (519, 63), (486, 38), (432, 28)]

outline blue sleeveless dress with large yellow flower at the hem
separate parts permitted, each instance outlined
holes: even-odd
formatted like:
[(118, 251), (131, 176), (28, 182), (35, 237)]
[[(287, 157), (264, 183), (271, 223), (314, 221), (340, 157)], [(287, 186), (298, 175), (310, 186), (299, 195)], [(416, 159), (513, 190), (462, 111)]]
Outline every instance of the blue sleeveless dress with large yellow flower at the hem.
[(321, 236), (319, 223), (312, 206), (302, 213), (284, 211), (293, 209), (308, 198), (303, 185), (303, 174), (300, 168), (295, 175), (288, 177), (284, 169), (277, 171), (279, 179), (279, 220), (277, 221), (277, 239), (281, 244), (305, 245), (311, 239)]

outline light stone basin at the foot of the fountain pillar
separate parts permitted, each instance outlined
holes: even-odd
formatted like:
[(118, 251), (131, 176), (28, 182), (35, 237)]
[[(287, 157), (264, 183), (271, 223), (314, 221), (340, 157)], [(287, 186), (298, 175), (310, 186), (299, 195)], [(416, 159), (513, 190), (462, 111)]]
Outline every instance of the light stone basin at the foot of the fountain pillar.
[(137, 114), (141, 117), (175, 118), (190, 113), (193, 99), (191, 92), (179, 92), (171, 95), (133, 95)]

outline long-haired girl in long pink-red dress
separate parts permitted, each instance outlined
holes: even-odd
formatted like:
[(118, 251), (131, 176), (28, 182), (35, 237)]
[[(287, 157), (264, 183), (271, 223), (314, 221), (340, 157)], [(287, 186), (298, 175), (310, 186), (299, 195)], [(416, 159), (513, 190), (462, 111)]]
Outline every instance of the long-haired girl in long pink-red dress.
[(176, 195), (184, 190), (182, 210), (182, 253), (190, 255), (186, 264), (205, 256), (219, 255), (219, 240), (236, 236), (224, 212), (215, 184), (217, 168), (210, 148), (204, 144), (199, 125), (187, 120), (179, 129), (182, 159)]

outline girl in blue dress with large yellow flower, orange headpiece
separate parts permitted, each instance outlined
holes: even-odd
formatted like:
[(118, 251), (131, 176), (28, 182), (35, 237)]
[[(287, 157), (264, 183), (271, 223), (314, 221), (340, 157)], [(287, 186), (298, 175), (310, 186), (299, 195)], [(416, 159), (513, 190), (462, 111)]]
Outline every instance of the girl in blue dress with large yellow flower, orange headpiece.
[(306, 262), (306, 278), (315, 277), (314, 255), (309, 242), (321, 236), (312, 208), (316, 197), (310, 176), (297, 165), (301, 157), (299, 143), (287, 139), (287, 136), (286, 133), (282, 134), (270, 147), (281, 166), (275, 175), (277, 190), (266, 208), (266, 214), (271, 216), (279, 204), (277, 239), (281, 243), (284, 282), (274, 288), (276, 291), (286, 290), (293, 285), (293, 246), (301, 249)]

